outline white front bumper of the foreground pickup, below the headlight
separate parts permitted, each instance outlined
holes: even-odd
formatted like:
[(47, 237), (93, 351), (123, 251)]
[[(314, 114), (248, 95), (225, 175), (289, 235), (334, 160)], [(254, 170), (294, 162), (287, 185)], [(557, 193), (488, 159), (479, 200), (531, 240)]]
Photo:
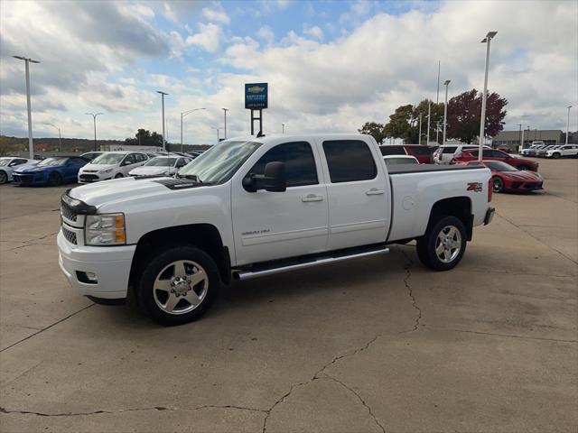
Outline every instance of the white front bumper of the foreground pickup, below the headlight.
[[(136, 245), (82, 246), (70, 244), (62, 234), (56, 237), (59, 265), (70, 285), (85, 296), (101, 299), (126, 298), (128, 277)], [(83, 272), (91, 272), (96, 282), (83, 282)]]

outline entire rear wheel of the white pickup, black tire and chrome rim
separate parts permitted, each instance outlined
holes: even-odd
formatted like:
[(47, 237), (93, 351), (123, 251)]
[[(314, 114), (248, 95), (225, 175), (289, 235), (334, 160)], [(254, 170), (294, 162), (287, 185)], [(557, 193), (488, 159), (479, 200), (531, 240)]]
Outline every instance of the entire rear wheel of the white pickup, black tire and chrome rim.
[(449, 271), (466, 251), (466, 228), (457, 217), (441, 217), (417, 240), (417, 256), (433, 271)]

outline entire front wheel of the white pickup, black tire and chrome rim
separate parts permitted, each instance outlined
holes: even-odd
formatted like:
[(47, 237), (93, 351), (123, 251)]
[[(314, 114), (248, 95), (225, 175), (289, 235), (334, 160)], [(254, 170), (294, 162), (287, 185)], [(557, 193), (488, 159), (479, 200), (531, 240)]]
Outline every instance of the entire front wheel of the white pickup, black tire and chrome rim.
[(182, 325), (210, 308), (219, 285), (219, 269), (209, 254), (196, 247), (173, 246), (144, 264), (139, 304), (162, 325)]

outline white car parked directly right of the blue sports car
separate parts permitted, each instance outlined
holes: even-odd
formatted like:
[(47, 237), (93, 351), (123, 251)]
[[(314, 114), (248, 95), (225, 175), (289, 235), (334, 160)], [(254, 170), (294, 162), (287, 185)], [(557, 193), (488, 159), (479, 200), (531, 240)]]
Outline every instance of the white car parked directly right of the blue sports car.
[(79, 183), (118, 179), (148, 161), (144, 152), (106, 152), (90, 161), (79, 171)]

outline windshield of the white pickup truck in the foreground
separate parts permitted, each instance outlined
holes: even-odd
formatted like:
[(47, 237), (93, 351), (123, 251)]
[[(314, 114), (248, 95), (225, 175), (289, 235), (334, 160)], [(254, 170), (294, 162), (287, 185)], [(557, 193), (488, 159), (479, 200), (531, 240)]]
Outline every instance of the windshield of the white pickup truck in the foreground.
[(221, 142), (179, 170), (179, 176), (195, 176), (203, 183), (229, 180), (261, 145), (255, 142)]

